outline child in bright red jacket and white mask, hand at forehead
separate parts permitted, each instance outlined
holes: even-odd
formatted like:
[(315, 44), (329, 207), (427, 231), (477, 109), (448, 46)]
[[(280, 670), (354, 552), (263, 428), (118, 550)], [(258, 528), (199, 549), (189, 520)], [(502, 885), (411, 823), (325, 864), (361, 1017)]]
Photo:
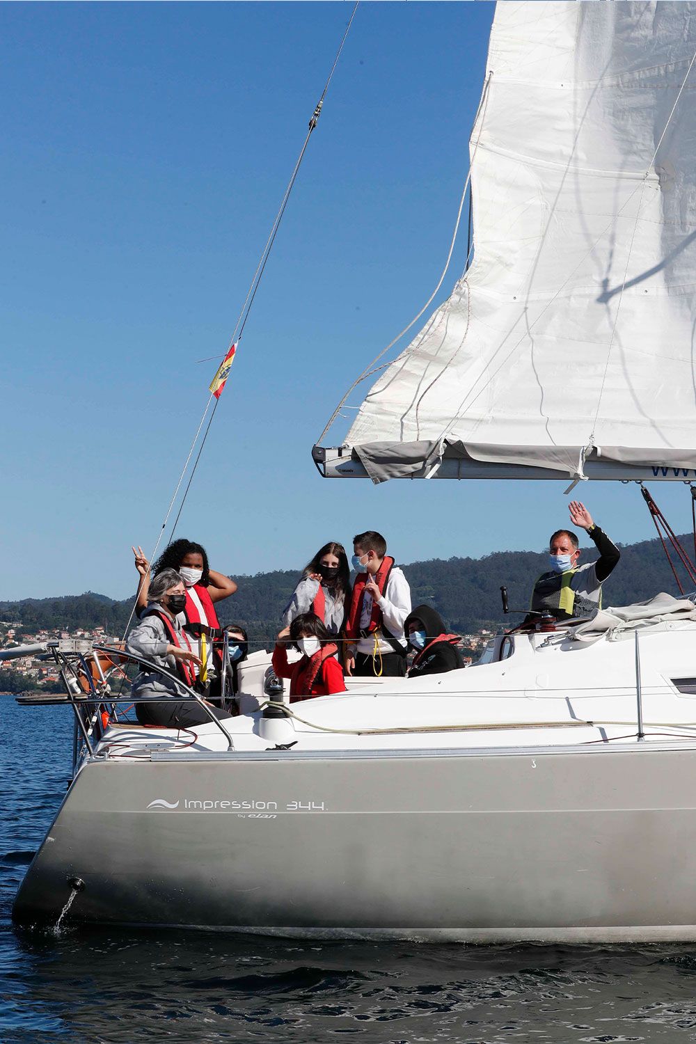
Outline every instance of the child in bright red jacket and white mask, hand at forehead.
[[(303, 654), (302, 660), (288, 663), (287, 645)], [(314, 613), (301, 613), (289, 627), (284, 627), (273, 649), (273, 670), (280, 678), (290, 679), (290, 703), (345, 692), (343, 671), (335, 655), (337, 646), (331, 640), (323, 621)]]

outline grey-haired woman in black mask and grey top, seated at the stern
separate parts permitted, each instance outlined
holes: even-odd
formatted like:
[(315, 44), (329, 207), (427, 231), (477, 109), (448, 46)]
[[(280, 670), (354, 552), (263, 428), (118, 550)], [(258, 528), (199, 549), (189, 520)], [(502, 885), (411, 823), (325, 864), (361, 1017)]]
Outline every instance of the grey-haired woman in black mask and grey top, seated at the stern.
[[(189, 688), (196, 684), (200, 659), (191, 648), (188, 635), (182, 630), (176, 616), (186, 602), (186, 587), (175, 569), (163, 569), (150, 584), (147, 609), (140, 623), (128, 635), (126, 652), (142, 657), (152, 666), (145, 667), (133, 683), (133, 695), (157, 696), (162, 703), (137, 703), (136, 714), (141, 725), (162, 725), (187, 729), (205, 725), (211, 715), (229, 718), (232, 714), (193, 699), (182, 699), (176, 683), (162, 674), (168, 670), (177, 674)], [(206, 713), (206, 711), (210, 713)]]

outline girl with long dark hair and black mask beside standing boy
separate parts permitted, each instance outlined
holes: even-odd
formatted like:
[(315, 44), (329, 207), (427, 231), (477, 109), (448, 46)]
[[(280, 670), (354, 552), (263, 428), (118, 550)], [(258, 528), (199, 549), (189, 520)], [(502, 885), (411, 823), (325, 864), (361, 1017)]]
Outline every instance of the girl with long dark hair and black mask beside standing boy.
[(330, 635), (337, 635), (343, 625), (345, 599), (351, 590), (351, 567), (342, 544), (329, 541), (305, 566), (297, 587), (283, 613), (283, 623), (289, 626), (296, 616), (314, 613)]

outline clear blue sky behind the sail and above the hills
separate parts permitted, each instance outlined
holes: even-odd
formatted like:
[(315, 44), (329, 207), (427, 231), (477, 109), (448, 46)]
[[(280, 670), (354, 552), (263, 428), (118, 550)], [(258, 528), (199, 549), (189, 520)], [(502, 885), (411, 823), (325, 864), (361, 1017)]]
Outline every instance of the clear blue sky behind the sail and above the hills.
[[(0, 598), (133, 589), (351, 9), (0, 5)], [(401, 562), (538, 549), (566, 523), (563, 482), (375, 488), (310, 456), (437, 281), (493, 14), (359, 8), (177, 530), (215, 568), (365, 528)], [(464, 254), (465, 228), (440, 299)], [(615, 539), (652, 536), (634, 487), (580, 492)], [(653, 492), (686, 529), (683, 489)]]

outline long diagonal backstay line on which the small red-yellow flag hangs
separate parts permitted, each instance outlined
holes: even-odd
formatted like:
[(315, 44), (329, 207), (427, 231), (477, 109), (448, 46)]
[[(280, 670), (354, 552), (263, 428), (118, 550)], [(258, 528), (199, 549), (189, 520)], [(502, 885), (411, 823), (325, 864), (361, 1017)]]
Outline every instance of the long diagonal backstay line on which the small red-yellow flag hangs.
[[(336, 51), (336, 56), (334, 58), (334, 64), (331, 67), (331, 72), (329, 73), (329, 75), (327, 77), (327, 81), (323, 85), (323, 91), (321, 92), (321, 97), (319, 98), (318, 102), (316, 103), (316, 105), (314, 108), (314, 112), (312, 114), (312, 118), (309, 121), (309, 128), (307, 130), (307, 136), (305, 137), (305, 141), (303, 143), (302, 149), (299, 150), (299, 156), (297, 157), (297, 160), (295, 162), (294, 168), (292, 170), (292, 174), (290, 175), (290, 181), (288, 182), (287, 188), (286, 188), (286, 190), (285, 190), (285, 192), (283, 194), (283, 198), (281, 199), (281, 205), (280, 205), (280, 208), (279, 208), (278, 213), (275, 215), (275, 218), (274, 218), (274, 220), (273, 220), (273, 222), (271, 224), (270, 233), (269, 233), (268, 238), (266, 240), (266, 244), (265, 244), (265, 246), (264, 246), (264, 248), (263, 248), (263, 251), (261, 253), (261, 257), (259, 259), (259, 263), (258, 263), (258, 265), (256, 267), (256, 271), (254, 272), (254, 278), (251, 279), (251, 282), (249, 284), (249, 288), (248, 288), (248, 290), (246, 292), (246, 298), (244, 299), (244, 304), (242, 305), (241, 311), (239, 313), (239, 317), (237, 318), (237, 323), (235, 325), (235, 329), (234, 329), (232, 338), (230, 340), (230, 345), (227, 346), (227, 349), (226, 349), (226, 351), (224, 353), (222, 353), (221, 355), (211, 356), (211, 358), (218, 358), (220, 360), (223, 359), (224, 356), (230, 351), (230, 349), (232, 348), (232, 346), (235, 342), (239, 343), (239, 340), (241, 339), (242, 333), (244, 331), (244, 327), (246, 326), (246, 322), (247, 322), (247, 319), (249, 317), (249, 312), (251, 311), (251, 306), (254, 304), (254, 299), (256, 298), (257, 290), (259, 289), (259, 284), (261, 283), (264, 270), (266, 268), (266, 264), (268, 262), (268, 257), (269, 257), (270, 252), (271, 252), (271, 250), (273, 247), (273, 243), (274, 243), (275, 237), (278, 235), (278, 230), (279, 230), (279, 228), (281, 226), (281, 221), (283, 220), (283, 215), (285, 214), (285, 210), (286, 210), (286, 207), (288, 205), (288, 200), (290, 198), (290, 193), (292, 192), (293, 186), (294, 186), (295, 181), (297, 179), (297, 174), (299, 172), (299, 167), (301, 167), (302, 162), (303, 162), (303, 160), (305, 158), (305, 152), (307, 151), (307, 146), (309, 145), (309, 140), (310, 140), (310, 138), (312, 136), (313, 130), (315, 129), (315, 127), (316, 127), (316, 125), (318, 123), (319, 116), (321, 115), (321, 109), (323, 106), (323, 102), (325, 102), (325, 99), (327, 97), (327, 92), (329, 91), (329, 87), (331, 85), (331, 80), (333, 79), (333, 75), (334, 75), (334, 73), (336, 71), (336, 66), (338, 65), (338, 61), (339, 61), (339, 58), (341, 56), (341, 52), (343, 50), (343, 46), (344, 46), (345, 41), (347, 39), (347, 34), (349, 34), (350, 30), (351, 30), (351, 26), (353, 25), (353, 20), (355, 19), (356, 11), (358, 10), (359, 4), (360, 4), (360, 0), (356, 0), (355, 4), (353, 6), (353, 11), (351, 14), (351, 18), (349, 20), (347, 25), (345, 26), (345, 31), (343, 32), (343, 35), (341, 38), (341, 42), (339, 44), (338, 50)], [(200, 361), (205, 361), (205, 360), (200, 360)], [(198, 427), (196, 429), (196, 433), (194, 435), (193, 442), (191, 443), (191, 448), (189, 449), (188, 455), (187, 455), (186, 460), (184, 462), (184, 467), (183, 467), (182, 472), (181, 472), (181, 474), (178, 476), (178, 481), (176, 482), (176, 488), (174, 490), (174, 494), (173, 494), (173, 496), (171, 498), (171, 501), (169, 503), (169, 507), (167, 508), (167, 514), (165, 515), (164, 522), (162, 523), (162, 526), (161, 526), (160, 533), (158, 536), (157, 542), (154, 544), (154, 547), (153, 547), (152, 551), (150, 552), (150, 556), (149, 556), (149, 560), (148, 560), (150, 563), (153, 562), (154, 555), (157, 554), (158, 550), (160, 549), (160, 545), (162, 543), (162, 539), (164, 537), (164, 532), (165, 532), (165, 529), (167, 527), (167, 523), (169, 521), (169, 518), (171, 516), (174, 503), (176, 501), (176, 497), (178, 495), (178, 491), (182, 488), (182, 483), (183, 483), (184, 477), (185, 477), (185, 475), (187, 473), (187, 470), (188, 470), (188, 467), (189, 467), (189, 462), (191, 460), (191, 457), (193, 456), (193, 451), (194, 451), (195, 446), (196, 446), (196, 444), (198, 442), (198, 436), (200, 435), (201, 428), (202, 428), (202, 426), (203, 426), (203, 424), (206, 422), (206, 417), (208, 416), (208, 411), (210, 409), (211, 403), (213, 402), (214, 398), (215, 397), (214, 397), (213, 393), (211, 392), (211, 394), (208, 397), (208, 401), (206, 403), (206, 408), (205, 408), (205, 410), (202, 412), (202, 416), (200, 418), (200, 421), (198, 423)], [(212, 412), (210, 414), (210, 418), (209, 418), (209, 421), (208, 421), (208, 425), (206, 427), (206, 431), (203, 433), (203, 437), (202, 437), (202, 441), (200, 443), (200, 447), (198, 449), (198, 453), (197, 453), (196, 458), (194, 460), (193, 468), (191, 469), (191, 474), (189, 475), (189, 480), (188, 480), (188, 483), (187, 483), (186, 489), (184, 491), (184, 496), (182, 497), (182, 501), (181, 501), (179, 506), (178, 506), (178, 512), (177, 512), (176, 518), (174, 520), (174, 525), (172, 527), (172, 531), (170, 533), (170, 537), (169, 537), (170, 542), (171, 542), (171, 540), (173, 540), (174, 533), (176, 531), (176, 526), (178, 524), (178, 520), (181, 518), (182, 511), (184, 508), (184, 504), (186, 503), (186, 499), (187, 499), (187, 497), (189, 495), (189, 490), (191, 489), (191, 482), (193, 481), (193, 476), (195, 475), (196, 469), (198, 467), (198, 462), (200, 460), (200, 456), (201, 456), (203, 447), (206, 445), (206, 441), (208, 438), (208, 434), (210, 432), (211, 425), (213, 423), (213, 418), (215, 417), (215, 411), (216, 411), (216, 409), (218, 407), (219, 401), (220, 401), (219, 398), (215, 398), (215, 404), (213, 406), (213, 410), (212, 410)], [(130, 614), (128, 616), (128, 621), (127, 621), (127, 623), (125, 625), (125, 630), (123, 632), (123, 639), (125, 639), (125, 636), (128, 633), (128, 628), (130, 627), (130, 624), (133, 622), (133, 618), (135, 616), (135, 613), (136, 613), (136, 607), (138, 606), (138, 598), (140, 597), (140, 592), (142, 590), (142, 586), (143, 586), (144, 582), (145, 582), (145, 577), (143, 576), (143, 578), (141, 579), (141, 583), (138, 586), (138, 593), (136, 595), (135, 601), (134, 601), (133, 607), (130, 609)]]

